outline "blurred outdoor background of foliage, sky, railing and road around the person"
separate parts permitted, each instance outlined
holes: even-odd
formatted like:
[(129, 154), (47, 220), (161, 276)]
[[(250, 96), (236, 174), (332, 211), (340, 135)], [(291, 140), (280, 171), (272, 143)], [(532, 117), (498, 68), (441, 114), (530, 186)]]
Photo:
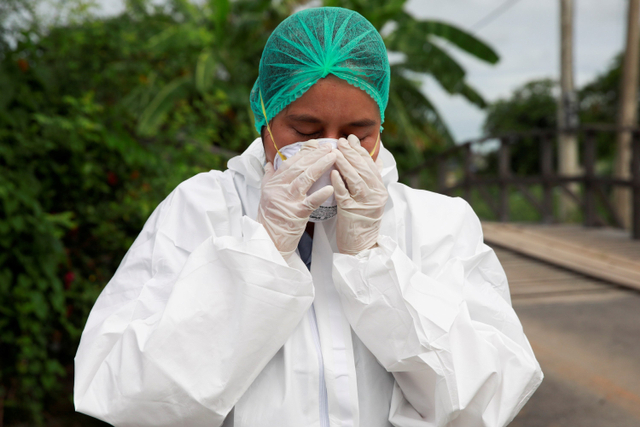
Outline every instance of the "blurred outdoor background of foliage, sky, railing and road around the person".
[(93, 302), (258, 136), (262, 48), (321, 5), (383, 35), (401, 179), (470, 201), (503, 261), (547, 373), (513, 425), (640, 425), (638, 0), (1, 0), (0, 427), (102, 425), (71, 396)]

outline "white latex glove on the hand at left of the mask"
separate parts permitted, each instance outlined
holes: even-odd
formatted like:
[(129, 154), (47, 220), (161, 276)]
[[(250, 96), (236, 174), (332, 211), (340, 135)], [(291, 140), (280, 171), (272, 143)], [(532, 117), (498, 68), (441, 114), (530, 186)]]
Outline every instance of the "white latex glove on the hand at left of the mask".
[(303, 144), (298, 154), (274, 171), (267, 163), (256, 220), (264, 226), (280, 254), (287, 259), (295, 252), (309, 215), (333, 193), (327, 185), (307, 196), (311, 185), (336, 161), (330, 144), (318, 147), (314, 140)]

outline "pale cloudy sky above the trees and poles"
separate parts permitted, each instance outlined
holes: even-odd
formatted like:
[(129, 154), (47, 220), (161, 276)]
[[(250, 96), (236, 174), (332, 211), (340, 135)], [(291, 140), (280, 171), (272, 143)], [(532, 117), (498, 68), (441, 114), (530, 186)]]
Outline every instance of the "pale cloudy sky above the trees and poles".
[[(122, 9), (121, 0), (100, 1), (105, 13)], [(486, 25), (479, 22), (497, 9), (506, 11)], [(500, 55), (488, 65), (450, 47), (467, 71), (469, 83), (487, 101), (508, 97), (514, 89), (542, 78), (559, 79), (560, 0), (409, 0), (406, 8), (420, 19), (434, 19), (471, 31)], [(604, 72), (622, 51), (627, 0), (574, 0), (574, 71), (578, 87)], [(436, 105), (454, 139), (482, 136), (485, 113), (426, 78), (423, 90)]]

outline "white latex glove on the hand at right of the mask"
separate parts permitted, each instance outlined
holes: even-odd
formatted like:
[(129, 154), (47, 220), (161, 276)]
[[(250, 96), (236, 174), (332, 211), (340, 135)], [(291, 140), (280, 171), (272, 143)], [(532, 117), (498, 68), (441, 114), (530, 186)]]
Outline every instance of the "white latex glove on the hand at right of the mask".
[(378, 165), (356, 136), (349, 135), (348, 141), (340, 138), (334, 152), (338, 170), (331, 172), (331, 183), (338, 202), (336, 241), (340, 253), (356, 255), (376, 245), (389, 194)]

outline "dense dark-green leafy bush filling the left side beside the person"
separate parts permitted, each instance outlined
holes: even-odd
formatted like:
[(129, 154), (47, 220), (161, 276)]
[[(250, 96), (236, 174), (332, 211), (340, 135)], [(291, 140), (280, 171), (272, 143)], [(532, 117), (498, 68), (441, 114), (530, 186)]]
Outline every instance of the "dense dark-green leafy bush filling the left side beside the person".
[(144, 221), (180, 181), (224, 166), (209, 144), (229, 121), (219, 88), (172, 105), (161, 134), (135, 131), (131, 94), (181, 69), (146, 49), (172, 20), (28, 28), (0, 47), (0, 422), (48, 424), (47, 408), (68, 408), (88, 312)]

